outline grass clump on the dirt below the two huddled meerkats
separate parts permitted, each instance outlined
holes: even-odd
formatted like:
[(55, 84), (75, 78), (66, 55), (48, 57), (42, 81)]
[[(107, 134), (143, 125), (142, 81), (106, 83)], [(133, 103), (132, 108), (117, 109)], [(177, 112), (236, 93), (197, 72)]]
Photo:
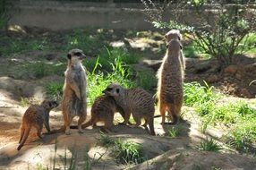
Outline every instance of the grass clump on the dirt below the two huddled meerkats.
[(121, 164), (139, 164), (145, 160), (141, 144), (132, 141), (115, 141), (115, 159)]

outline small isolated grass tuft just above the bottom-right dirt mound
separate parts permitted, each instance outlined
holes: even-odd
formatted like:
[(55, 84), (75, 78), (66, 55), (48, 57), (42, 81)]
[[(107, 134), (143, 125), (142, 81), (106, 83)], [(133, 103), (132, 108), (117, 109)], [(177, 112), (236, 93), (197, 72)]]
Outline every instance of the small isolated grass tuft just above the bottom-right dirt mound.
[(206, 140), (201, 141), (201, 143), (197, 146), (197, 149), (200, 149), (203, 151), (218, 152), (221, 149), (221, 147), (214, 140), (206, 139)]

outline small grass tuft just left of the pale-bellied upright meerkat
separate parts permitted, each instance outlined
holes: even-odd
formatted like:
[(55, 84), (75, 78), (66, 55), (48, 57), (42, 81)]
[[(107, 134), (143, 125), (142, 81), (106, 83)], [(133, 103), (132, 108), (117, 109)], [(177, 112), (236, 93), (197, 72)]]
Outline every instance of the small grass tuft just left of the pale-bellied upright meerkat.
[(63, 83), (61, 82), (48, 82), (46, 85), (47, 95), (55, 100), (60, 100), (63, 93)]

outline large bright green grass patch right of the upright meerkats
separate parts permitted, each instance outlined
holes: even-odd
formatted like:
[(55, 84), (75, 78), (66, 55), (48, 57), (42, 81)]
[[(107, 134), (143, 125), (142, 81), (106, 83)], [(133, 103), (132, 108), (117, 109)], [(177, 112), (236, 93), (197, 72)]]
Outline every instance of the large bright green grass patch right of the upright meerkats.
[(197, 82), (184, 84), (184, 104), (194, 107), (201, 116), (201, 132), (206, 132), (209, 125), (224, 124), (229, 129), (226, 143), (242, 152), (252, 153), (256, 149), (255, 106), (244, 101), (219, 102), (221, 98), (225, 97), (208, 85), (201, 86)]

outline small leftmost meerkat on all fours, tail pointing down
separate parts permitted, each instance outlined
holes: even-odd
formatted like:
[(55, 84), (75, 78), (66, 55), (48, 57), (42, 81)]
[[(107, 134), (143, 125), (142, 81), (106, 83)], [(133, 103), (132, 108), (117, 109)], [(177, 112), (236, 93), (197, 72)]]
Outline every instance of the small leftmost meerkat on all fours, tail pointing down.
[(38, 130), (38, 137), (43, 138), (42, 129), (43, 124), (47, 128), (47, 132), (51, 132), (49, 126), (49, 113), (50, 111), (58, 106), (55, 101), (43, 101), (40, 105), (30, 106), (22, 117), (21, 123), (21, 138), (19, 140), (18, 150), (24, 145), (27, 140), (30, 130), (35, 127)]

